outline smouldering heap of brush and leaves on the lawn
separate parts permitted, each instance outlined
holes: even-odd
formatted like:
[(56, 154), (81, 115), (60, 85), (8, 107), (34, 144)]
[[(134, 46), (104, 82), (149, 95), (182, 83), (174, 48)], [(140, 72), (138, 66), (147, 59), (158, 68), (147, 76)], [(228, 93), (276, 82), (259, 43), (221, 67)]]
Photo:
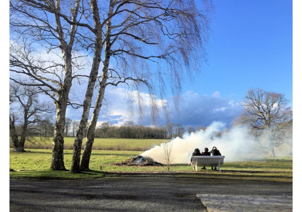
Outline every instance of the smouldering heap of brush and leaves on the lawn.
[(164, 164), (154, 161), (151, 157), (143, 157), (138, 155), (136, 157), (130, 157), (121, 163), (114, 163), (118, 166), (163, 166)]

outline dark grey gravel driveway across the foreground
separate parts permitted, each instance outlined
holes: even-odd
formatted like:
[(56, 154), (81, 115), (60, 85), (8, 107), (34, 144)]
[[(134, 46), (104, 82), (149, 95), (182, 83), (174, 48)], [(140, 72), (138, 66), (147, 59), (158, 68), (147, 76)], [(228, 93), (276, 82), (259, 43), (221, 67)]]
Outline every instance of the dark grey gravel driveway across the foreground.
[(10, 180), (10, 211), (206, 211), (196, 194), (292, 195), (292, 183), (131, 175)]

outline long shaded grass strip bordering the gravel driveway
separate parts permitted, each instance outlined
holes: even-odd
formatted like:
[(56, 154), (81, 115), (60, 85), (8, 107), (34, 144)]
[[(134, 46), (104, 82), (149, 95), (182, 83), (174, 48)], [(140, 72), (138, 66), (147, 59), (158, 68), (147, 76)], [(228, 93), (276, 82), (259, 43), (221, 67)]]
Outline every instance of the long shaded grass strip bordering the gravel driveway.
[[(279, 176), (279, 175), (251, 175), (253, 172), (239, 172), (240, 174), (232, 172), (105, 172), (99, 170), (88, 170), (80, 173), (71, 173), (70, 170), (66, 171), (53, 171), (50, 169), (40, 171), (18, 171), (11, 172), (11, 178), (17, 179), (95, 179), (95, 178), (114, 178), (122, 177), (124, 179), (133, 177), (136, 180), (148, 180), (148, 179), (168, 179), (171, 177), (179, 180), (188, 181), (193, 183), (195, 180), (206, 181), (207, 183), (233, 183), (236, 180), (241, 181), (258, 181), (258, 182), (280, 182), (280, 183), (291, 183), (292, 176)], [(265, 172), (258, 172), (265, 173)], [(190, 180), (191, 179), (191, 180)], [(194, 180), (192, 180), (194, 179)], [(279, 180), (278, 180), (279, 179)]]

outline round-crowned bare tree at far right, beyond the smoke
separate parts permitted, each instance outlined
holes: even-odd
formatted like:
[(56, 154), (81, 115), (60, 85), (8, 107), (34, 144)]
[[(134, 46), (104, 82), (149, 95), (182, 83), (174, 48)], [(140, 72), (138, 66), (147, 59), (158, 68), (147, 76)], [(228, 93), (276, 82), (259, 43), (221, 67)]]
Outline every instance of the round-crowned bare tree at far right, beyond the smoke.
[(293, 122), (288, 99), (282, 93), (251, 88), (242, 106), (244, 111), (239, 120), (249, 126), (260, 147), (268, 149), (270, 156), (275, 157), (274, 147), (287, 143), (285, 133)]

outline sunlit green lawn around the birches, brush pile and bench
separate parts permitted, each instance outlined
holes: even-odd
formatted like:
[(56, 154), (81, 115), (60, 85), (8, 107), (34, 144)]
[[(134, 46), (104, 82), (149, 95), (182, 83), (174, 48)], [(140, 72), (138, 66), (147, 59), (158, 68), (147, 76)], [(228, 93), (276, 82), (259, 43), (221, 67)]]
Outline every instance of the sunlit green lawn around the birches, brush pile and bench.
[[(123, 173), (132, 174), (166, 174), (165, 167), (161, 166), (115, 166), (113, 163), (120, 162), (131, 156), (136, 156), (141, 151), (112, 151), (92, 150), (90, 169), (92, 172), (72, 174), (69, 171), (50, 171), (51, 150), (27, 149), (25, 153), (10, 152), (11, 178), (61, 178), (82, 179), (104, 176), (116, 176)], [(64, 162), (66, 169), (71, 166), (72, 150), (64, 150)], [(102, 166), (102, 171), (99, 167)], [(228, 178), (246, 180), (265, 180), (278, 182), (292, 182), (292, 156), (276, 158), (244, 158), (243, 161), (228, 162), (221, 166), (222, 172), (213, 172), (210, 167), (207, 170), (199, 170), (197, 173), (188, 164), (173, 164), (170, 176), (189, 176), (190, 178)]]

